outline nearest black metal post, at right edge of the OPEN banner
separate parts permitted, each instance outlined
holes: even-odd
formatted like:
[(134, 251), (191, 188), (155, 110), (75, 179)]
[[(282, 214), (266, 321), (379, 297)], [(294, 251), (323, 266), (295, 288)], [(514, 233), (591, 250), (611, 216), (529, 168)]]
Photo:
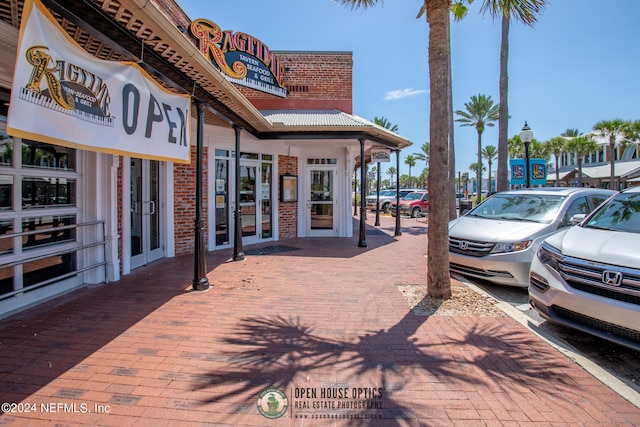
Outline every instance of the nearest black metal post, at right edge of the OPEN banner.
[(202, 156), (204, 151), (204, 111), (207, 105), (198, 102), (196, 107), (198, 109), (198, 129), (196, 137), (196, 219), (192, 287), (195, 291), (206, 291), (209, 289), (209, 279), (207, 279), (207, 260), (204, 248), (204, 221), (202, 220)]

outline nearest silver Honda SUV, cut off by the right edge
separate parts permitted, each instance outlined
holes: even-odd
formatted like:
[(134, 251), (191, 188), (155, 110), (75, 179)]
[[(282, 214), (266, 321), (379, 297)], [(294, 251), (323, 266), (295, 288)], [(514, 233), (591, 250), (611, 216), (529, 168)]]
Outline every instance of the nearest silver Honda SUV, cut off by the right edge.
[(640, 187), (540, 245), (529, 300), (550, 322), (640, 351)]

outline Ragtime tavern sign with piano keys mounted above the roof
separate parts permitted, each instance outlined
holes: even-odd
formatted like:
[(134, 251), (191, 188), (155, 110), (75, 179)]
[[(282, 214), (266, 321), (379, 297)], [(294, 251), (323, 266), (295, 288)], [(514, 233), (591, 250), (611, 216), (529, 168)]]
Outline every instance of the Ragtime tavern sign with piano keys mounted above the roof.
[(284, 66), (266, 44), (245, 33), (222, 31), (208, 19), (196, 19), (189, 27), (198, 39), (204, 55), (230, 82), (287, 96), (284, 87)]

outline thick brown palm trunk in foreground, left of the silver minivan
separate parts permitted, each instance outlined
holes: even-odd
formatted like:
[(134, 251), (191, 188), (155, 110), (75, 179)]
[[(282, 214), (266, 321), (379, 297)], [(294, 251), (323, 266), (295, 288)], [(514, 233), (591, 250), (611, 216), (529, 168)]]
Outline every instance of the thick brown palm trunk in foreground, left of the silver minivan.
[(425, 0), (429, 24), (429, 228), (427, 294), (451, 298), (449, 278), (449, 60), (450, 0)]

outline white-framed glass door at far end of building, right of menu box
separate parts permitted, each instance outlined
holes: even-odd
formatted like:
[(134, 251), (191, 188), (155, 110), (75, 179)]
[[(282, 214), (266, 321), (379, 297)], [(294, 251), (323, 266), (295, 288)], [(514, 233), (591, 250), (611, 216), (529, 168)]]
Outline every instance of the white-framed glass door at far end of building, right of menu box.
[(307, 231), (309, 236), (336, 235), (336, 197), (334, 167), (308, 169)]

